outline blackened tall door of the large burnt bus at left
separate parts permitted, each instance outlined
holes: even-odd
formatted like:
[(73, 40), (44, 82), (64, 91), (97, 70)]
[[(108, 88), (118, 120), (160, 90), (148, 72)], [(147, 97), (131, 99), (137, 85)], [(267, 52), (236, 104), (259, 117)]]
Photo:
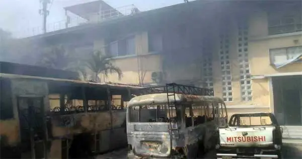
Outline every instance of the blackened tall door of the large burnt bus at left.
[(18, 97), (22, 158), (46, 158), (43, 97)]

